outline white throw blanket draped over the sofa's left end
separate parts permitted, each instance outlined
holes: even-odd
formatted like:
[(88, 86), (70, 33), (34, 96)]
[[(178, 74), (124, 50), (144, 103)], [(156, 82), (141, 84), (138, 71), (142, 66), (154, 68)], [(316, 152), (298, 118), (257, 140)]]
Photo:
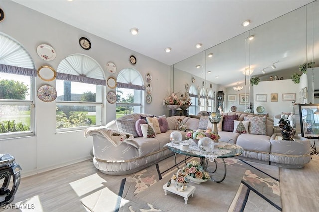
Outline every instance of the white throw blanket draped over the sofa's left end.
[(108, 141), (110, 141), (114, 146), (119, 146), (125, 140), (133, 139), (133, 134), (119, 132), (104, 126), (100, 127), (88, 127), (84, 131), (84, 136), (92, 136), (94, 134), (104, 136)]

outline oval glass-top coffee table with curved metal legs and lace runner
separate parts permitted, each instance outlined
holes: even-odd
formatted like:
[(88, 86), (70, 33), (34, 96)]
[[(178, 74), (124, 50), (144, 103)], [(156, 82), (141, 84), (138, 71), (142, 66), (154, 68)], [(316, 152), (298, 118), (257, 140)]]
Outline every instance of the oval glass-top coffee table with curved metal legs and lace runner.
[[(185, 148), (185, 145), (189, 147), (188, 149)], [(226, 142), (218, 142), (218, 143), (214, 143), (214, 149), (210, 152), (210, 153), (204, 153), (202, 152), (196, 142), (192, 139), (189, 140), (183, 140), (181, 141), (179, 144), (174, 144), (174, 143), (167, 143), (165, 146), (167, 146), (167, 148), (173, 152), (175, 152), (175, 165), (176, 167), (179, 169), (178, 164), (176, 162), (176, 155), (177, 154), (182, 154), (185, 155), (185, 159), (184, 162), (186, 163), (186, 159), (187, 156), (190, 157), (197, 157), (200, 159), (200, 165), (203, 166), (204, 170), (207, 171), (208, 173), (210, 173), (210, 178), (215, 181), (216, 183), (220, 183), (222, 182), (227, 174), (227, 169), (226, 169), (226, 163), (224, 161), (224, 158), (227, 157), (235, 157), (238, 155), (241, 155), (244, 150), (242, 147), (236, 145), (236, 144), (230, 144), (230, 143), (226, 143)], [(224, 167), (224, 171), (221, 174), (221, 179), (216, 179), (212, 174), (216, 173), (217, 171), (217, 164), (218, 162), (216, 161), (217, 158), (220, 158), (222, 161), (222, 165)], [(211, 166), (210, 164), (213, 164), (213, 166)], [(212, 169), (211, 169), (212, 168)]]

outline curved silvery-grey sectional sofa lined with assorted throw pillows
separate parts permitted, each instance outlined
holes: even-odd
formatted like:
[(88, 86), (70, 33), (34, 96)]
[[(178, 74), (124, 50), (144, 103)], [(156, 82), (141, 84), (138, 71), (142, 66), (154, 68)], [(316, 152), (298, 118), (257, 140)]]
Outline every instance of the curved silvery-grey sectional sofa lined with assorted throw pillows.
[[(285, 168), (302, 168), (310, 162), (310, 141), (302, 137), (295, 137), (296, 141), (279, 140), (273, 133), (271, 119), (241, 112), (224, 113), (222, 117), (218, 124), (219, 141), (243, 147), (241, 157)], [(171, 156), (173, 152), (164, 146), (170, 142), (169, 136), (177, 130), (179, 122), (190, 130), (212, 127), (205, 113), (167, 118), (135, 113), (106, 126), (87, 128), (85, 136), (93, 137), (94, 166), (106, 174), (123, 175)], [(186, 132), (180, 132), (185, 139)]]

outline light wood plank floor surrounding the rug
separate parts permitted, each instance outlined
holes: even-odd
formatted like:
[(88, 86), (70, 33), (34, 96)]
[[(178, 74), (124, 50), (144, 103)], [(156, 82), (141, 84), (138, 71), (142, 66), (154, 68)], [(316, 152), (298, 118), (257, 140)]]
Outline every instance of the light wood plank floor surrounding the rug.
[[(89, 188), (90, 182), (98, 179), (97, 175), (108, 182), (126, 177), (104, 175), (87, 160), (22, 178), (13, 204), (24, 203), (28, 207), (35, 204), (35, 208), (30, 210), (32, 212), (86, 212), (80, 199), (99, 189)], [(280, 187), (284, 212), (319, 211), (319, 156), (313, 155), (303, 169), (280, 168)], [(3, 210), (0, 208), (0, 211)]]

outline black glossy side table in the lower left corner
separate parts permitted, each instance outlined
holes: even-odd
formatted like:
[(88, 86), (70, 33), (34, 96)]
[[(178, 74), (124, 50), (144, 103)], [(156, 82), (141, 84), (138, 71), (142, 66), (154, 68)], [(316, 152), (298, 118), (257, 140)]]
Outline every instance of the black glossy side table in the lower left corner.
[[(0, 189), (0, 204), (9, 204), (13, 201), (14, 195), (20, 185), (20, 165), (14, 162), (15, 158), (10, 154), (0, 154), (0, 179), (4, 178)], [(13, 177), (12, 189), (9, 190), (11, 176)]]

